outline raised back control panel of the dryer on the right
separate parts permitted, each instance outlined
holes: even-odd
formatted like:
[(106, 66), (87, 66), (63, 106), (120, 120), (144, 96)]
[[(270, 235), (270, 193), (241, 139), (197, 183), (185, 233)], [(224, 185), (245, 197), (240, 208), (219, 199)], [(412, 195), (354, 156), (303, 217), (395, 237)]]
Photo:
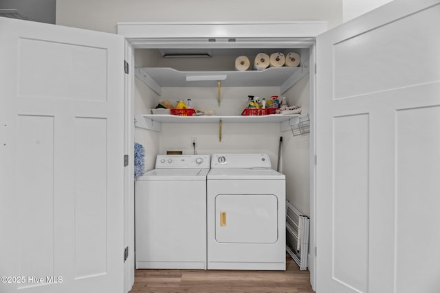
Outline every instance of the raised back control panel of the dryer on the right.
[(212, 154), (211, 168), (270, 168), (268, 154)]

